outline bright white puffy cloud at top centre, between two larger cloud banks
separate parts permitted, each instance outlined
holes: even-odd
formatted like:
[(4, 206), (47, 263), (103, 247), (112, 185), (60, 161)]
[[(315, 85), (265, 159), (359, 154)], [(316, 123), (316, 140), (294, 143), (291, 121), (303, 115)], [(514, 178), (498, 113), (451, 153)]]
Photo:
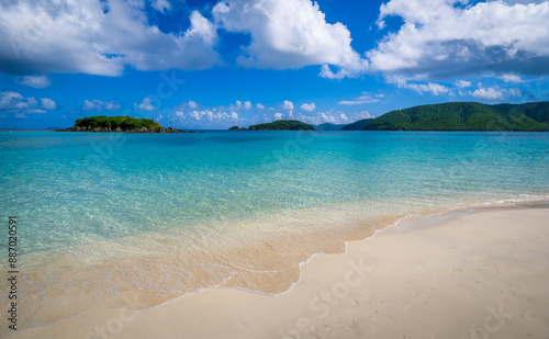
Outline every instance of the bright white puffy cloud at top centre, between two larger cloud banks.
[[(228, 32), (249, 33), (251, 43), (237, 61), (245, 67), (301, 68), (333, 65), (339, 71), (321, 76), (357, 76), (368, 61), (350, 46), (350, 32), (329, 24), (316, 2), (310, 0), (226, 0), (213, 8), (215, 22)], [(326, 66), (327, 67), (327, 66)]]

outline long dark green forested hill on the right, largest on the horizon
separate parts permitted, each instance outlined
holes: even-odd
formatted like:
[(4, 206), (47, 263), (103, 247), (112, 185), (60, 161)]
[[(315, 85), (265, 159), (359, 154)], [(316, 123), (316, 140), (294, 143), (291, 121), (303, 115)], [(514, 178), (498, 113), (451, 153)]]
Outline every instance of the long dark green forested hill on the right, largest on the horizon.
[(363, 131), (549, 131), (549, 102), (449, 102), (385, 113)]

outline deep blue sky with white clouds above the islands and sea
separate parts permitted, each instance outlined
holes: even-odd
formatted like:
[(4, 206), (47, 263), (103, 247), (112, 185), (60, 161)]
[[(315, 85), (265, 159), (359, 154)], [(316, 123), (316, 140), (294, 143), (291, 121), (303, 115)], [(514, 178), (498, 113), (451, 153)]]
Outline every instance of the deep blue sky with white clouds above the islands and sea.
[(549, 100), (549, 1), (4, 0), (0, 128), (225, 129)]

